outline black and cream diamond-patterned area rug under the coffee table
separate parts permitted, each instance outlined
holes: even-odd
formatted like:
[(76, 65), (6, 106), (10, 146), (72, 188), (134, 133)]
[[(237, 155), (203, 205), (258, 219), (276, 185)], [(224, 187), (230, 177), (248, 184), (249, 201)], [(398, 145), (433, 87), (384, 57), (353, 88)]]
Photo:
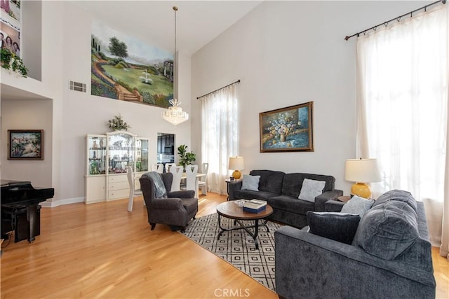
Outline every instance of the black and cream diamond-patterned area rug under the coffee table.
[[(254, 221), (242, 221), (246, 225), (253, 225)], [(250, 224), (249, 224), (250, 223)], [(234, 227), (234, 220), (221, 217), (223, 228)], [(236, 223), (236, 225), (239, 225)], [(184, 235), (200, 244), (216, 256), (226, 260), (242, 272), (253, 277), (260, 284), (276, 291), (274, 283), (274, 232), (281, 225), (268, 221), (267, 227), (260, 226), (257, 242), (259, 249), (255, 249), (254, 239), (246, 230), (223, 232), (220, 239), (218, 214), (210, 214), (191, 221)], [(267, 232), (267, 228), (269, 232)], [(254, 228), (250, 228), (254, 232)]]

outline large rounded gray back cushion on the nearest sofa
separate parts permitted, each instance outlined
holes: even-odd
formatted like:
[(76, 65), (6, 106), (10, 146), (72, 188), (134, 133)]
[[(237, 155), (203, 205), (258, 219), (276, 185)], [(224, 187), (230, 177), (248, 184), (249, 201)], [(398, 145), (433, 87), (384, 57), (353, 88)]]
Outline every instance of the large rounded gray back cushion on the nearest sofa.
[(376, 204), (361, 218), (352, 244), (385, 260), (400, 256), (419, 237), (417, 214), (412, 206), (402, 197), (396, 200), (393, 196)]

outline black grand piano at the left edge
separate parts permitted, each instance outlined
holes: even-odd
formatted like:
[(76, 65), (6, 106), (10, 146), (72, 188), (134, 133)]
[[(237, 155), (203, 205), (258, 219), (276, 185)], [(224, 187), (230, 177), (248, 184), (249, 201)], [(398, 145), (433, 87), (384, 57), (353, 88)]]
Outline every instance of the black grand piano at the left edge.
[(1, 238), (14, 230), (14, 242), (33, 242), (41, 234), (41, 206), (55, 195), (53, 188), (33, 187), (29, 181), (0, 180)]

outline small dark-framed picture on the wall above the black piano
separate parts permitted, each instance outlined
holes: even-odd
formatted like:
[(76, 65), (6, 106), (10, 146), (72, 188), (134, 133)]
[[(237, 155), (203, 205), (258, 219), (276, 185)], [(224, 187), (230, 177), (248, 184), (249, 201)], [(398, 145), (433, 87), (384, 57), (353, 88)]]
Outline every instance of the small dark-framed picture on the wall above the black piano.
[(8, 130), (8, 160), (43, 160), (43, 130)]

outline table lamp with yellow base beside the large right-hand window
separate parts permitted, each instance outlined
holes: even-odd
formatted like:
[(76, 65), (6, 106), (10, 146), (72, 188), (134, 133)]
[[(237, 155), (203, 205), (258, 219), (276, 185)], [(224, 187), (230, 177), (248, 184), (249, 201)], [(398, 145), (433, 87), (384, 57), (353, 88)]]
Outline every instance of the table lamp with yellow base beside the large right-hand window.
[(371, 189), (366, 183), (380, 181), (379, 167), (376, 159), (347, 159), (344, 179), (354, 181), (351, 187), (351, 195), (364, 198), (371, 197)]

